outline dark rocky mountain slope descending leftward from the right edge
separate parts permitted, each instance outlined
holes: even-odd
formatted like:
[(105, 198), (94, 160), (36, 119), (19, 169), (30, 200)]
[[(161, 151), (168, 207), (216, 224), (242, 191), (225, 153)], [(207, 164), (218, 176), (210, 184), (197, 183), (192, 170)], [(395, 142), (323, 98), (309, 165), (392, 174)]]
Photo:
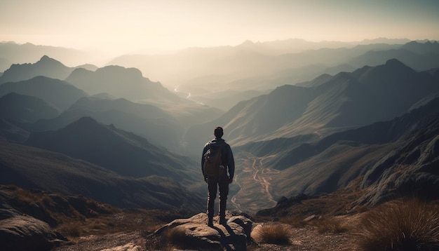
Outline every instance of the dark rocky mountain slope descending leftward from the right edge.
[(437, 98), (391, 121), (292, 147), (288, 153), (271, 156), (264, 166), (282, 170), (273, 175), (278, 182), (272, 191), (278, 196), (328, 193), (362, 175), (361, 186), (368, 191), (363, 200), (367, 203), (383, 201), (398, 192), (405, 194), (406, 184), (411, 184), (412, 191), (419, 191), (419, 196), (427, 196), (429, 192), (422, 186), (439, 189), (435, 185), (439, 176), (433, 170), (438, 163), (434, 154), (438, 134)]

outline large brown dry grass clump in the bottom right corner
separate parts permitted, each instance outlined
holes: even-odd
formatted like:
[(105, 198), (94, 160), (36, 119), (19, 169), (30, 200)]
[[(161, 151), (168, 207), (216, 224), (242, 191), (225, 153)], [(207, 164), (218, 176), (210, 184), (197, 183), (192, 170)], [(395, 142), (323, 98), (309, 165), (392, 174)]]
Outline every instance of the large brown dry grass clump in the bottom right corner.
[(439, 208), (417, 199), (384, 203), (358, 226), (360, 250), (439, 250)]

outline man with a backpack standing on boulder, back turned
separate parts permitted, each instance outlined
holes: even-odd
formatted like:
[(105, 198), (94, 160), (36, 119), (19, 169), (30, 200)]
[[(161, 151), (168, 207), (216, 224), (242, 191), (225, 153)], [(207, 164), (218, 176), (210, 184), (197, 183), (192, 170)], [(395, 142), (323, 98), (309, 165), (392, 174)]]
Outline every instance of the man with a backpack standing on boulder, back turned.
[[(215, 129), (213, 130), (213, 135), (215, 135), (215, 139), (210, 140), (210, 142), (205, 144), (203, 149), (203, 155), (201, 156), (201, 170), (203, 170), (203, 177), (205, 182), (208, 183), (208, 226), (213, 226), (213, 215), (215, 214), (215, 198), (217, 197), (218, 188), (219, 224), (226, 224), (227, 195), (229, 194), (229, 184), (233, 182), (235, 173), (234, 155), (231, 152), (230, 145), (222, 139), (222, 135), (224, 135), (222, 127), (215, 127)], [(208, 149), (221, 149), (221, 165), (222, 167), (224, 167), (224, 171), (222, 171), (219, 175), (208, 176), (204, 172), (204, 155), (206, 151), (208, 151)]]

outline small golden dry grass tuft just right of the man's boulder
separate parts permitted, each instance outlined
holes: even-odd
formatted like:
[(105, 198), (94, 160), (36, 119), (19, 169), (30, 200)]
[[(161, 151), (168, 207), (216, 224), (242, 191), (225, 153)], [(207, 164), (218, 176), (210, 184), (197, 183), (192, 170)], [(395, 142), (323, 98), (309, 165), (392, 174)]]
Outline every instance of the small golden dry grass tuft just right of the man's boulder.
[(252, 231), (256, 243), (289, 245), (291, 232), (285, 224), (261, 224)]

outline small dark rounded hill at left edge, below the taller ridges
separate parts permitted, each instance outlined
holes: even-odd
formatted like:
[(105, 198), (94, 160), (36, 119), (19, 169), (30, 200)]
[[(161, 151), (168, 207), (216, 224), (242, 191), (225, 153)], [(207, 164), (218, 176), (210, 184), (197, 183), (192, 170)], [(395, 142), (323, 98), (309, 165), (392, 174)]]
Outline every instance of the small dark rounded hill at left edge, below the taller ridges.
[(60, 111), (38, 97), (8, 93), (0, 97), (0, 118), (18, 123), (34, 123), (42, 118), (55, 118)]

